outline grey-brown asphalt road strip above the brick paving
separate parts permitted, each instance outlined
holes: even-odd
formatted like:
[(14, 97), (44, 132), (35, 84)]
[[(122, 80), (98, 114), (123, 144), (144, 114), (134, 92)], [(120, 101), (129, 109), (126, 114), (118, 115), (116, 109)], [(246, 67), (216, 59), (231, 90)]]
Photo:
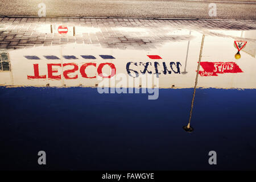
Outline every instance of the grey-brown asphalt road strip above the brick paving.
[[(46, 16), (256, 19), (252, 0), (1, 0), (0, 15), (39, 16), (39, 3), (46, 5)], [(217, 16), (209, 16), (210, 3)]]

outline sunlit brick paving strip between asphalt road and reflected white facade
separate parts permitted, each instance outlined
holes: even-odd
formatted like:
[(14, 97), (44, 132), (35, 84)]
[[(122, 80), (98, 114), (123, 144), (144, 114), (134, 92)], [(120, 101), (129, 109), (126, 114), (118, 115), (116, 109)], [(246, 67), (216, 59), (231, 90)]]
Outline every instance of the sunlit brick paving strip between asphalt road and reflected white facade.
[[(60, 35), (50, 26), (76, 27), (76, 35)], [(154, 49), (169, 41), (189, 40), (175, 31), (255, 30), (255, 20), (123, 19), (123, 18), (0, 18), (0, 48), (18, 49), (68, 43), (104, 48)], [(80, 29), (80, 32), (78, 31)], [(174, 34), (170, 34), (174, 32)]]

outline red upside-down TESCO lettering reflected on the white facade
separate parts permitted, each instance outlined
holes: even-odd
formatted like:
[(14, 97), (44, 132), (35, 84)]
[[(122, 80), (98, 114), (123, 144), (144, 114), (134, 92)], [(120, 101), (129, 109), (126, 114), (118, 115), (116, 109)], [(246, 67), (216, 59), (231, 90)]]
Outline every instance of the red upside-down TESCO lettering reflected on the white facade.
[[(28, 75), (27, 78), (30, 79), (40, 79), (40, 78), (44, 78), (46, 79), (46, 75), (40, 75), (39, 73), (39, 65), (38, 64), (33, 64), (34, 65), (34, 75)], [(64, 70), (65, 67), (67, 66), (72, 66), (72, 69), (67, 69)], [(106, 76), (106, 73), (102, 73), (102, 68), (103, 67), (109, 67), (111, 69), (110, 75)], [(78, 78), (78, 74), (76, 74), (75, 76), (70, 76), (68, 75), (69, 73), (75, 73), (79, 70), (80, 74), (82, 77), (84, 78), (96, 78), (95, 76), (88, 76), (85, 72), (85, 69), (87, 67), (96, 67), (96, 63), (85, 63), (83, 65), (81, 65), (80, 69), (79, 66), (75, 63), (64, 63), (64, 64), (47, 64), (47, 70), (48, 70), (48, 79), (51, 80), (61, 80), (61, 75), (57, 75), (58, 71), (57, 71), (57, 67), (61, 68), (63, 67), (63, 76), (65, 79), (76, 79)], [(112, 63), (101, 63), (98, 65), (97, 68), (97, 73), (98, 76), (102, 77), (102, 78), (111, 78), (115, 75), (116, 69), (115, 69), (115, 65)], [(55, 73), (55, 75), (53, 75), (53, 73)]]

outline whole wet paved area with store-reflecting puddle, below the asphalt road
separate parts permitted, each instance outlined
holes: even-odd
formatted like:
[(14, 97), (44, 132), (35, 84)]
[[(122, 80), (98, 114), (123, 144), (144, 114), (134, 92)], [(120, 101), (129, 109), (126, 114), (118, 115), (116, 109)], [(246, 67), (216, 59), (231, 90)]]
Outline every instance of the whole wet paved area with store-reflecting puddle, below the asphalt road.
[(255, 27), (2, 18), (1, 168), (255, 169)]

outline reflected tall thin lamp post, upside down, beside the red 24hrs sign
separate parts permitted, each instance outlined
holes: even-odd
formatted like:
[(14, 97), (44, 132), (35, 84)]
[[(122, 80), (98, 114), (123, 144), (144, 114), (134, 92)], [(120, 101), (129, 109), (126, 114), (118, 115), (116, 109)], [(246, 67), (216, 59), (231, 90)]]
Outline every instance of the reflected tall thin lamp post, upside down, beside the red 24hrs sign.
[(191, 102), (191, 110), (190, 110), (190, 114), (189, 114), (188, 125), (187, 126), (183, 126), (183, 129), (185, 131), (189, 132), (189, 133), (194, 130), (193, 127), (190, 126), (190, 122), (191, 122), (191, 117), (192, 117), (193, 104), (194, 104), (194, 100), (195, 100), (196, 85), (197, 85), (197, 79), (198, 79), (198, 75), (199, 75), (199, 68), (200, 68), (200, 62), (201, 62), (201, 57), (202, 57), (203, 46), (204, 46), (204, 35), (202, 37), (199, 61), (198, 61), (198, 64), (197, 64), (196, 81), (195, 81), (195, 86), (194, 86), (193, 98), (192, 98), (192, 102)]

